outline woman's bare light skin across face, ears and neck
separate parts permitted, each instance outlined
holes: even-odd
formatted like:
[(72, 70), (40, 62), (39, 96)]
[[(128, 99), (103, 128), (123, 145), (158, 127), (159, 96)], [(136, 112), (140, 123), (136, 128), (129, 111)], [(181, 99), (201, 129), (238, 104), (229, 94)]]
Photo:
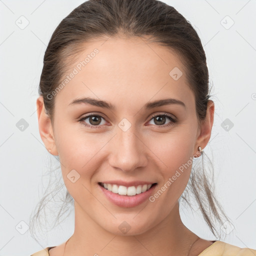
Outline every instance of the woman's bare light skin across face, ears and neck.
[[(197, 125), (195, 98), (185, 71), (175, 52), (141, 38), (108, 38), (84, 45), (68, 74), (80, 60), (97, 48), (99, 52), (55, 95), (54, 122), (44, 112), (38, 97), (37, 116), (41, 139), (50, 153), (58, 155), (68, 192), (74, 199), (75, 228), (65, 255), (198, 255), (212, 244), (184, 226), (178, 198), (184, 191), (191, 165), (154, 201), (124, 208), (112, 204), (98, 183), (122, 179), (157, 182), (156, 192), (182, 164), (203, 149), (210, 138), (214, 103), (209, 100), (201, 128)], [(173, 67), (183, 75), (174, 80)], [(73, 99), (90, 96), (108, 101), (114, 110), (89, 104), (68, 105)], [(172, 97), (185, 103), (144, 110), (148, 101)], [(89, 118), (101, 114), (99, 128)], [(168, 113), (178, 123), (160, 124), (153, 114)], [(118, 123), (126, 118), (131, 127), (123, 131)], [(164, 117), (163, 117), (164, 118)], [(147, 124), (147, 125), (146, 125)], [(148, 125), (150, 124), (150, 125)], [(165, 126), (165, 127), (164, 127)], [(75, 169), (80, 177), (73, 183), (67, 177)], [(118, 226), (131, 227), (122, 233)], [(50, 256), (63, 255), (64, 243), (49, 250)], [(97, 253), (97, 254), (95, 254)]]

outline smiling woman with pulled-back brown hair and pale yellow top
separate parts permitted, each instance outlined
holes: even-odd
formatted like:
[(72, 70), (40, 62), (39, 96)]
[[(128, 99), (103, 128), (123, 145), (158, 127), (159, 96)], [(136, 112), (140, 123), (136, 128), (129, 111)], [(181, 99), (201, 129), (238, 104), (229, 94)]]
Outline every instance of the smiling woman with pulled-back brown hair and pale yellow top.
[(59, 157), (75, 228), (32, 256), (256, 255), (203, 239), (180, 219), (189, 185), (214, 235), (220, 229), (207, 208), (228, 221), (204, 172), (192, 169), (209, 141), (214, 103), (201, 41), (173, 7), (82, 3), (51, 36), (39, 94), (40, 136)]

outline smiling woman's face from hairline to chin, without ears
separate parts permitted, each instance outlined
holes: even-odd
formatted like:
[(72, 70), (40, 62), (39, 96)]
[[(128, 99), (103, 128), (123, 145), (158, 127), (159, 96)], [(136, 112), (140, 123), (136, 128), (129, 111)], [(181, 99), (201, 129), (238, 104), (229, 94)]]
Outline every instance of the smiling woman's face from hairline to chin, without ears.
[[(52, 93), (52, 135), (75, 222), (145, 232), (171, 215), (205, 146), (180, 59), (140, 38), (108, 38), (87, 43), (66, 75)], [(183, 103), (152, 103), (168, 98)], [(139, 193), (140, 184), (155, 185)]]

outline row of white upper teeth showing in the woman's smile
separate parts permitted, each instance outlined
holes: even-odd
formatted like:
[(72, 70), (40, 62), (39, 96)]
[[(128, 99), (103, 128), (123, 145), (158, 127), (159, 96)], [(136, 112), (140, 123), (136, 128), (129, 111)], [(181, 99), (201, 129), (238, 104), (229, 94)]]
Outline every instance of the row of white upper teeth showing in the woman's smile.
[(144, 185), (138, 185), (138, 186), (122, 186), (122, 185), (116, 185), (116, 184), (106, 184), (101, 183), (104, 188), (106, 188), (109, 191), (112, 191), (113, 193), (118, 193), (121, 195), (135, 195), (140, 194), (145, 191), (147, 191), (152, 184), (144, 184)]

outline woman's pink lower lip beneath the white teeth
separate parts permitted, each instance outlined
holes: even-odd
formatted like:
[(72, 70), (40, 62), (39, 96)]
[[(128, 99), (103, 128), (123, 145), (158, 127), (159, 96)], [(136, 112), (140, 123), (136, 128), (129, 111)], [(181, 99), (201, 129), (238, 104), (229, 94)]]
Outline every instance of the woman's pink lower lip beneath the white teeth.
[(128, 208), (137, 206), (144, 202), (153, 192), (156, 185), (153, 185), (147, 191), (136, 195), (120, 195), (105, 189), (99, 184), (98, 186), (110, 202), (117, 206)]

